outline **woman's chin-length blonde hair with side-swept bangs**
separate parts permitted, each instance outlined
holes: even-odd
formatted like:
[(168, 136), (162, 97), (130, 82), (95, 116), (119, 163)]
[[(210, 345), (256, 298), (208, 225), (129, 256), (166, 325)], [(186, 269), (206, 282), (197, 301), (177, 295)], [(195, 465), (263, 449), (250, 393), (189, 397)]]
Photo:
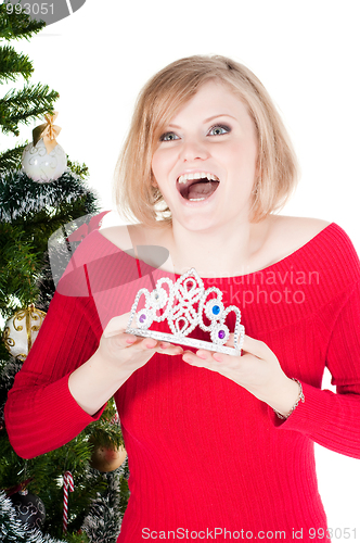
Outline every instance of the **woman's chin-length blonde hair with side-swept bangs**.
[[(151, 163), (159, 137), (176, 113), (209, 80), (220, 80), (247, 106), (258, 139), (257, 178), (250, 219), (281, 209), (297, 177), (297, 160), (286, 128), (260, 80), (246, 66), (220, 55), (194, 55), (155, 74), (138, 97), (130, 131), (115, 171), (115, 202), (130, 222), (171, 223)], [(158, 219), (162, 219), (159, 222)]]

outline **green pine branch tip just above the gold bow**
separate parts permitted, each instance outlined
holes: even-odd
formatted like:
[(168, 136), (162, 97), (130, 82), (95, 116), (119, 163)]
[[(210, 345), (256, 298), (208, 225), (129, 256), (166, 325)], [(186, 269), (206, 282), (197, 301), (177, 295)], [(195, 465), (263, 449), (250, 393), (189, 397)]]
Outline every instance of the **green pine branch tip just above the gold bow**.
[(48, 85), (26, 85), (21, 90), (11, 89), (0, 100), (0, 125), (3, 134), (20, 135), (17, 126), (28, 125), (35, 118), (53, 113), (52, 103), (59, 93)]

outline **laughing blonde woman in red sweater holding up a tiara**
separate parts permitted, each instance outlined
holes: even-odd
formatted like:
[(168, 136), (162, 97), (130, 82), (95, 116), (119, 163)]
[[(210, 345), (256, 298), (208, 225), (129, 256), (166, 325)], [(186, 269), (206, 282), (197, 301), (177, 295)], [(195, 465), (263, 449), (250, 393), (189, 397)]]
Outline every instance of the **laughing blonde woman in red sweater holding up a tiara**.
[[(337, 225), (274, 215), (296, 162), (267, 91), (222, 56), (170, 64), (139, 98), (117, 177), (138, 223), (75, 253), (9, 394), (13, 446), (62, 445), (115, 394), (131, 492), (119, 542), (329, 539), (313, 443), (360, 457), (359, 261)], [(168, 260), (140, 257), (146, 245)], [(140, 288), (192, 267), (242, 310), (242, 356), (125, 332)]]

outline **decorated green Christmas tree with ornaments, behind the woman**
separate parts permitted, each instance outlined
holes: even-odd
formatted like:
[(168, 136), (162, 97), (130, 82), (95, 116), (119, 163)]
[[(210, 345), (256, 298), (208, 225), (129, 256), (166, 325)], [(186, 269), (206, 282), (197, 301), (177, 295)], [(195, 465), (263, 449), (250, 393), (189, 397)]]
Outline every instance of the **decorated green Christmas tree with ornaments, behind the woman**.
[[(47, 123), (34, 130), (33, 142), (17, 143), (0, 154), (0, 315), (5, 323), (4, 341), (0, 342), (0, 541), (115, 543), (129, 492), (114, 402), (108, 402), (102, 418), (70, 443), (29, 460), (13, 451), (4, 427), (8, 391), (55, 291), (52, 272), (65, 267), (83, 232), (101, 218), (83, 164), (65, 155), (63, 172), (47, 178), (40, 166), (38, 177), (25, 167), (26, 153), (39, 152), (47, 138), (49, 156), (63, 153), (53, 137), (53, 103), (59, 94), (46, 85), (30, 84), (30, 60), (8, 45), (12, 39), (29, 39), (46, 24), (7, 8), (8, 3), (0, 5), (0, 78), (9, 84), (23, 77), (25, 85), (0, 99), (2, 134), (18, 137), (21, 125), (43, 115)], [(43, 149), (41, 152), (48, 156)], [(56, 241), (52, 262), (50, 237)], [(20, 351), (18, 323), (27, 338)], [(108, 452), (116, 456), (113, 464), (106, 464)], [(124, 455), (120, 460), (119, 453)], [(33, 504), (34, 510), (28, 508), (26, 518), (18, 514), (17, 500)]]

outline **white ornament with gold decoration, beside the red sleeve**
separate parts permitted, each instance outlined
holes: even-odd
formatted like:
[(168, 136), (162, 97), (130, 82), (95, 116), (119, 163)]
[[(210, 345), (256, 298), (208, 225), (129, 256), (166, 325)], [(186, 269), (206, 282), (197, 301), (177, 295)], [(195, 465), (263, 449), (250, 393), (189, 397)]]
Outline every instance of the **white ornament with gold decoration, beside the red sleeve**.
[(46, 317), (43, 311), (30, 304), (16, 312), (5, 324), (2, 340), (15, 358), (25, 361)]

